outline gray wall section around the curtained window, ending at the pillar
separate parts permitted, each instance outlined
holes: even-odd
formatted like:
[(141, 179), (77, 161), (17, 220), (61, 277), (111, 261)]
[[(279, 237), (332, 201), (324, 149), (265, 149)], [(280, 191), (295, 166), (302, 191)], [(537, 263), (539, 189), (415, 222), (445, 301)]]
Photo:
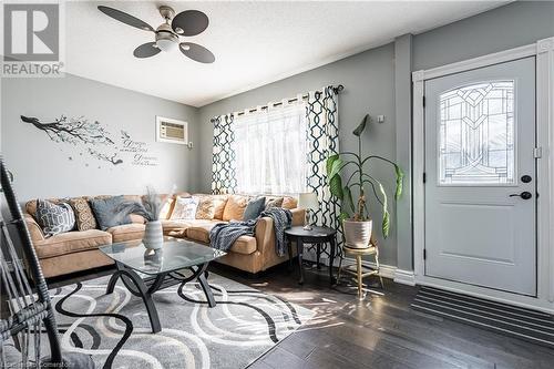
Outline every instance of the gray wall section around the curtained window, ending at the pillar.
[[(396, 157), (393, 54), (394, 45), (390, 43), (203, 106), (199, 112), (202, 146), (198, 177), (201, 178), (201, 189), (209, 191), (211, 186), (213, 137), (211, 117), (263, 105), (268, 101), (294, 98), (299, 92), (319, 90), (328, 84), (341, 83), (345, 85), (345, 91), (339, 95), (340, 150), (358, 150), (357, 140), (351, 132), (367, 113), (372, 116), (386, 115), (384, 123), (373, 122), (365, 132), (363, 147), (366, 153), (379, 154), (393, 160)], [(392, 172), (388, 171), (387, 167), (377, 165), (376, 173), (386, 184), (393, 185)], [(394, 217), (394, 214), (391, 215)], [(380, 222), (377, 222), (376, 226), (379, 224)], [(396, 245), (393, 225), (391, 235), (382, 242), (381, 259), (384, 264), (396, 265)]]

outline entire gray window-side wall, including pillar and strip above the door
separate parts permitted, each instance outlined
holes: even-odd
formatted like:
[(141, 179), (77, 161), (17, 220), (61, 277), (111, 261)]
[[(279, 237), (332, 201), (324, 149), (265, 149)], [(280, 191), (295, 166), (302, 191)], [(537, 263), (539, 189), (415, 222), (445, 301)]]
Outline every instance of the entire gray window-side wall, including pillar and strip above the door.
[[(372, 123), (369, 132), (366, 132), (366, 151), (397, 160), (409, 172), (407, 161), (409, 163), (411, 156), (409, 146), (411, 104), (407, 103), (407, 99), (409, 100), (410, 95), (396, 92), (396, 89), (410, 89), (410, 66), (412, 71), (429, 69), (533, 43), (553, 35), (554, 2), (519, 1), (412, 38), (402, 37), (393, 44), (369, 50), (203, 106), (199, 110), (202, 143), (197, 172), (198, 186), (203, 191), (209, 189), (211, 117), (338, 83), (342, 83), (346, 88), (339, 98), (341, 150), (356, 147), (351, 131), (363, 114), (370, 113), (372, 116), (384, 114), (387, 120), (383, 124)], [(377, 174), (392, 184), (391, 177), (383, 168), (378, 167)], [(408, 177), (404, 184), (409, 186), (411, 180)], [(400, 228), (394, 224), (393, 235), (382, 243), (382, 262), (398, 265), (402, 269), (412, 268), (411, 217), (406, 214), (410, 207), (411, 197), (408, 188), (406, 197), (399, 204)], [(397, 239), (400, 242), (398, 245)]]

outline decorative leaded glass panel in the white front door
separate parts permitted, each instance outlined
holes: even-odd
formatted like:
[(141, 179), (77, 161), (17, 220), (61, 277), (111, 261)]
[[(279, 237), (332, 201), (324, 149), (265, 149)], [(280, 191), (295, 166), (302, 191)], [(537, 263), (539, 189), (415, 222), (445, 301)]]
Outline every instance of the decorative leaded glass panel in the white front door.
[(514, 183), (514, 81), (440, 95), (439, 184)]

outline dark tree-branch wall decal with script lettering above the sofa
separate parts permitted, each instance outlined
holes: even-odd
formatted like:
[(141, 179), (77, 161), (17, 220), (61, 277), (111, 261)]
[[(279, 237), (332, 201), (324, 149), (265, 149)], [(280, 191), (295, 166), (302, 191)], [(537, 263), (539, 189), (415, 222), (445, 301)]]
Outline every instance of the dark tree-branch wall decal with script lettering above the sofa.
[[(90, 122), (84, 116), (68, 119), (61, 115), (54, 122), (42, 123), (37, 117), (21, 115), (21, 121), (32, 124), (44, 132), (55, 143), (66, 143), (82, 150), (79, 156), (94, 158), (113, 166), (130, 163), (136, 166), (156, 166), (158, 158), (150, 153), (148, 143), (133, 140), (126, 131), (121, 131), (121, 136), (113, 139), (113, 134), (100, 122)], [(115, 141), (119, 141), (117, 143)], [(62, 150), (60, 147), (60, 150)], [(73, 162), (74, 156), (68, 160)], [(90, 163), (85, 163), (88, 167)], [(101, 168), (101, 166), (98, 166)]]

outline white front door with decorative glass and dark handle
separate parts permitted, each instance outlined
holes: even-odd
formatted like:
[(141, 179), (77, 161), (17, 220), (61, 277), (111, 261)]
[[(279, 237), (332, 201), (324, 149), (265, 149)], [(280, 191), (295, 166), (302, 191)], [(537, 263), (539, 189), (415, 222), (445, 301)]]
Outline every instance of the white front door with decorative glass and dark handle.
[(425, 275), (536, 296), (535, 58), (424, 96)]

